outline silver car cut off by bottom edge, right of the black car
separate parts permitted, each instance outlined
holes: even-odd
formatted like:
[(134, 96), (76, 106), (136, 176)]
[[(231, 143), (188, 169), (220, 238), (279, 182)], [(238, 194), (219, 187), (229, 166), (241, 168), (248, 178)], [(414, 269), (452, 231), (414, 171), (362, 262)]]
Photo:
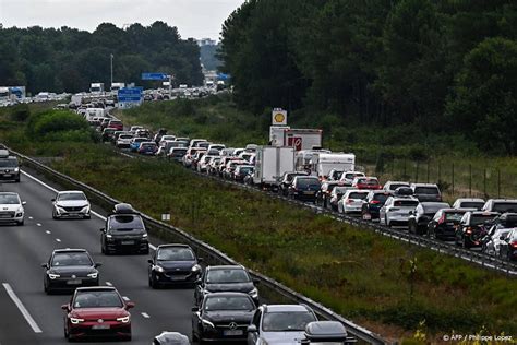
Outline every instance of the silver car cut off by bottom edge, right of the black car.
[(262, 305), (248, 326), (248, 345), (299, 345), (313, 321), (314, 311), (304, 305)]

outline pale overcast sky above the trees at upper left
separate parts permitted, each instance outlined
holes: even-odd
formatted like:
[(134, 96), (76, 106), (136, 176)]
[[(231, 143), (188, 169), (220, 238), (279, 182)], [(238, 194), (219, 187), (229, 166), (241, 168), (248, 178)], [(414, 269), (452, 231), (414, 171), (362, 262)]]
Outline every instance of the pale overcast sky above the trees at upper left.
[(182, 38), (219, 38), (228, 15), (244, 0), (0, 0), (3, 27), (69, 26), (94, 31), (104, 22), (118, 27), (163, 21)]

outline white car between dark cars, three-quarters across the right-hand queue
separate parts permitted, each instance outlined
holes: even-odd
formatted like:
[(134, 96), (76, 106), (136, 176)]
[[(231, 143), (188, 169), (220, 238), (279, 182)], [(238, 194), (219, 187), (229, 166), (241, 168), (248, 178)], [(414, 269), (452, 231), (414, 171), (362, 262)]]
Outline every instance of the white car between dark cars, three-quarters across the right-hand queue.
[(392, 227), (408, 226), (410, 213), (414, 213), (419, 201), (413, 197), (389, 197), (378, 211), (380, 223)]

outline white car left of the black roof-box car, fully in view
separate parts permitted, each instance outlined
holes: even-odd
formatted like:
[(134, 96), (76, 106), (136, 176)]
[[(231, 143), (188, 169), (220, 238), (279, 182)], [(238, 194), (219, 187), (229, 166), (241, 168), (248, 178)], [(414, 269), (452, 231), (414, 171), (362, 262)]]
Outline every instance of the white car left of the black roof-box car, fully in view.
[(52, 199), (52, 218), (81, 217), (89, 219), (91, 205), (86, 195), (79, 190), (58, 192)]

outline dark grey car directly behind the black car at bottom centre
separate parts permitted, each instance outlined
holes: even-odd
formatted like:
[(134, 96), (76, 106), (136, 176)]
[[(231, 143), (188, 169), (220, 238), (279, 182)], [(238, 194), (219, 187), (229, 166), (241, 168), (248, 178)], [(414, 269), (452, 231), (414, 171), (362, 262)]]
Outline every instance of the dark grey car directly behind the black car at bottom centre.
[(206, 294), (233, 292), (250, 295), (258, 306), (258, 290), (255, 287), (257, 283), (257, 281), (251, 278), (243, 266), (208, 266), (195, 287), (194, 300), (199, 306)]

